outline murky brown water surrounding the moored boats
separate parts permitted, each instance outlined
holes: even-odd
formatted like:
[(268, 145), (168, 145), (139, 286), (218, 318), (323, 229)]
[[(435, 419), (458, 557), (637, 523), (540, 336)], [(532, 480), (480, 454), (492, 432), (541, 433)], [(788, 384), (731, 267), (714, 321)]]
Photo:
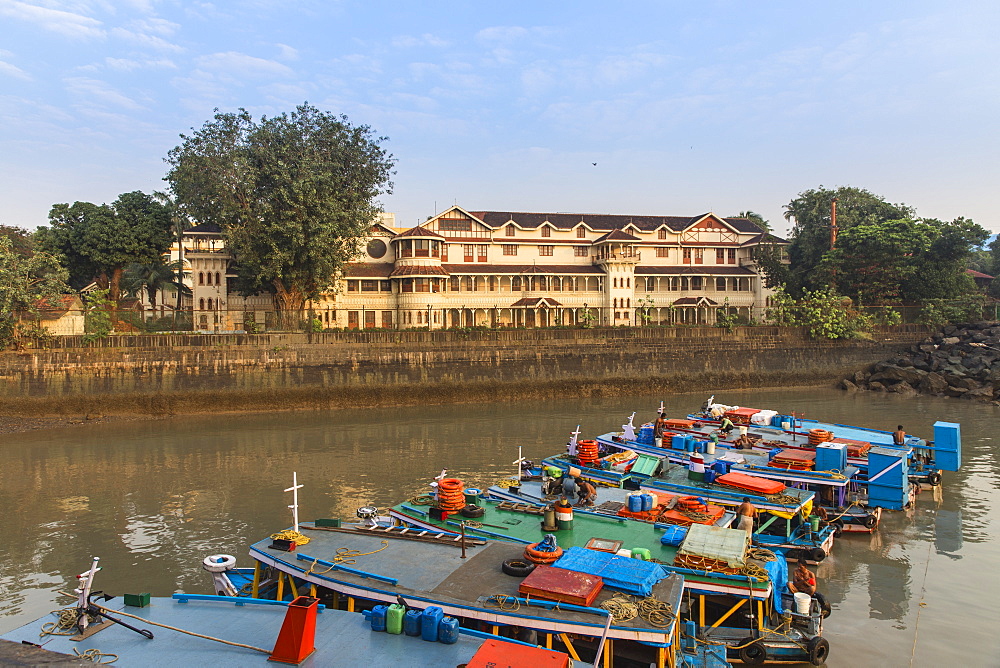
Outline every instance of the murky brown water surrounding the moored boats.
[[(290, 524), (292, 471), (301, 516), (352, 517), (421, 493), (440, 469), (488, 485), (536, 461), (577, 424), (610, 431), (659, 396), (175, 418), (6, 437), (0, 446), (0, 632), (66, 603), (55, 590), (101, 557), (114, 592), (210, 591), (202, 559), (238, 555)], [(667, 397), (665, 397), (667, 398)], [(704, 397), (668, 399), (672, 414)], [(830, 666), (1000, 665), (1000, 409), (957, 400), (786, 389), (720, 401), (930, 436), (962, 424), (965, 465), (939, 493), (889, 513), (874, 535), (844, 535), (818, 569), (834, 607)]]

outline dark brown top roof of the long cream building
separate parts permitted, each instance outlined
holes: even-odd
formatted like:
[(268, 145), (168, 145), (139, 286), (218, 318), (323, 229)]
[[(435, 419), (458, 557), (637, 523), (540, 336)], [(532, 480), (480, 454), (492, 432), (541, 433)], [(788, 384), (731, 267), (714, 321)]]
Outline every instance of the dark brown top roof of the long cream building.
[[(514, 222), (522, 228), (532, 229), (548, 223), (552, 227), (561, 230), (570, 230), (581, 223), (592, 230), (608, 231), (620, 230), (631, 224), (643, 232), (653, 232), (661, 227), (667, 227), (674, 232), (681, 232), (691, 227), (705, 216), (714, 215), (703, 213), (697, 216), (629, 216), (618, 214), (591, 214), (591, 213), (529, 213), (518, 211), (470, 211), (470, 214), (483, 221), (489, 227), (497, 229), (509, 222)], [(746, 234), (760, 234), (762, 230), (752, 221), (746, 218), (722, 218), (731, 227)]]

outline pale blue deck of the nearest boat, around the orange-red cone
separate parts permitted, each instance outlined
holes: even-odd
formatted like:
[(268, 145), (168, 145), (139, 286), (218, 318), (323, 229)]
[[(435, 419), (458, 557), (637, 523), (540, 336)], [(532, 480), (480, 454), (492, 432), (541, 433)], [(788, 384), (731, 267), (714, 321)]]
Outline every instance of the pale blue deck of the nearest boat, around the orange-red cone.
[[(154, 598), (145, 608), (127, 607), (121, 598), (102, 605), (112, 611), (124, 610), (143, 619), (175, 626), (187, 631), (222, 638), (231, 642), (270, 651), (278, 637), (285, 608), (275, 605), (236, 605), (230, 601), (188, 601)], [(112, 615), (114, 613), (112, 612)], [(73, 650), (97, 649), (119, 656), (116, 666), (273, 666), (268, 654), (196, 638), (177, 631), (144, 625), (141, 621), (119, 617), (137, 628), (149, 629), (148, 639), (117, 624), (74, 642), (69, 636), (46, 636), (39, 639), (41, 625), (53, 621), (47, 616), (6, 633), (0, 638), (13, 642), (26, 640), (45, 649), (73, 654)], [(457, 666), (469, 661), (482, 640), (460, 636), (446, 645), (424, 642), (406, 635), (391, 635), (371, 630), (359, 613), (326, 609), (316, 616), (316, 652), (303, 667), (310, 666)]]

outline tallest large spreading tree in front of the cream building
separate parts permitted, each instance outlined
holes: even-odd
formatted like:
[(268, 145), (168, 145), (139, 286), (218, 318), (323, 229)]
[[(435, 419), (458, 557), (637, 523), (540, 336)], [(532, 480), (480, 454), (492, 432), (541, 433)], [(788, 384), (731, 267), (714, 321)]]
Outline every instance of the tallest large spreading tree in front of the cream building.
[(259, 121), (216, 113), (181, 139), (167, 156), (176, 202), (223, 230), (240, 292), (273, 290), (286, 324), (357, 257), (392, 192), (385, 138), (308, 104)]

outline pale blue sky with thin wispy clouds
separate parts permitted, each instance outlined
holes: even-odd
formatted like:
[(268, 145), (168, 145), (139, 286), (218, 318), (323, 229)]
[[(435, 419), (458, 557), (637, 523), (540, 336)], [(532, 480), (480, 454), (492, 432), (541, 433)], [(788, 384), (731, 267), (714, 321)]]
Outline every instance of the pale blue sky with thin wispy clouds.
[[(397, 225), (729, 216), (819, 186), (993, 232), (1000, 3), (0, 0), (0, 223), (164, 190), (213, 110), (387, 137)], [(596, 163), (596, 164), (594, 164)]]

